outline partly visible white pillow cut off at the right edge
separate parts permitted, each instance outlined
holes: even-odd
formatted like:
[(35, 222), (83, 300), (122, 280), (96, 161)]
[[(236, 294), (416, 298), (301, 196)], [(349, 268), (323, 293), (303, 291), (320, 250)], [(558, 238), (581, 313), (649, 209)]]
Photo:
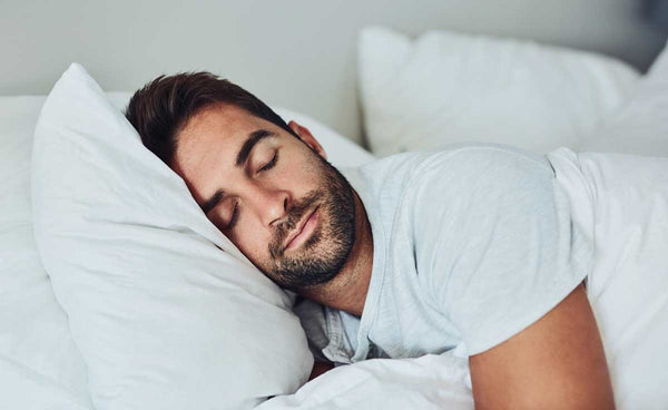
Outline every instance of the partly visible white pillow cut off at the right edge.
[(579, 150), (668, 157), (668, 43), (628, 101)]

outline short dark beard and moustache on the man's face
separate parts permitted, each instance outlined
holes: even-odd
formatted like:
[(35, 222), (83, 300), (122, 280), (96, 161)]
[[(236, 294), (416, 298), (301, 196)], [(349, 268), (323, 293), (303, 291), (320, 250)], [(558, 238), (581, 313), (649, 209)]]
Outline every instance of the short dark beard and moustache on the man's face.
[[(315, 154), (315, 153), (314, 153)], [(322, 184), (295, 201), (269, 243), (265, 273), (279, 286), (298, 291), (330, 282), (343, 269), (355, 243), (355, 199), (345, 177), (315, 154)], [(283, 244), (305, 215), (318, 209), (318, 226), (302, 246), (286, 254)]]

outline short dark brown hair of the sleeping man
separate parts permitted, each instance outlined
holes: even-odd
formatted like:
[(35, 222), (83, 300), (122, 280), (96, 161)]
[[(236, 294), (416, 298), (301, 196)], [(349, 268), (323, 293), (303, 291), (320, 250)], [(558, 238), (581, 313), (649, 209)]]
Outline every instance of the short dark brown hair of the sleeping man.
[(178, 133), (197, 113), (217, 104), (245, 109), (297, 137), (281, 116), (253, 94), (208, 71), (155, 78), (132, 95), (125, 116), (141, 143), (171, 167)]

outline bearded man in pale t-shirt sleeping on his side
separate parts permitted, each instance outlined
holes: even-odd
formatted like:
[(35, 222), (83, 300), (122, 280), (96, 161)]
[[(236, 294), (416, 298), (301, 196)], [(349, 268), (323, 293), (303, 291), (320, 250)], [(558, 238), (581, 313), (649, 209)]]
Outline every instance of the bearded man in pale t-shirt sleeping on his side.
[(126, 116), (263, 273), (360, 319), (354, 351), (327, 359), (456, 348), (477, 408), (615, 407), (582, 283), (592, 250), (544, 157), (451, 146), (348, 183), (308, 129), (207, 72), (158, 77)]

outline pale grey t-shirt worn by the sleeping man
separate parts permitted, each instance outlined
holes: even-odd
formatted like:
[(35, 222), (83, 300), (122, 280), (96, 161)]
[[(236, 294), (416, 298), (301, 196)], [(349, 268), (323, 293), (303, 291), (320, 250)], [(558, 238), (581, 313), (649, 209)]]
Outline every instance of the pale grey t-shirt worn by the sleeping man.
[(483, 352), (592, 267), (546, 156), (466, 143), (342, 173), (369, 215), (373, 269), (361, 319), (311, 301), (295, 308), (321, 360)]

